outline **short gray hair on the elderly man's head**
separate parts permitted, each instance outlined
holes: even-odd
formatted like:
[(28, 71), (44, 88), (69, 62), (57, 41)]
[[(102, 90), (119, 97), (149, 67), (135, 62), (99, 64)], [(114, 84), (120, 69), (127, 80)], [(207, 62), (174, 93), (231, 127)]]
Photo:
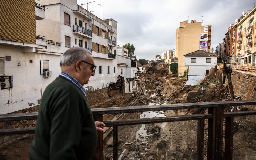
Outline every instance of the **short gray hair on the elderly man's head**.
[(67, 65), (71, 66), (76, 63), (78, 60), (86, 60), (87, 53), (91, 55), (91, 52), (82, 47), (73, 47), (68, 49), (60, 57), (60, 66)]

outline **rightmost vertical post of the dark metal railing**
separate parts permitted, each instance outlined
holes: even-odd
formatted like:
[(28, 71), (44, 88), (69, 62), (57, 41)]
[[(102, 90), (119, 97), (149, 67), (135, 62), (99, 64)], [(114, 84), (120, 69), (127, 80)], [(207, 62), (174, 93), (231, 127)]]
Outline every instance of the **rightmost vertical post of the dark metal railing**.
[(225, 160), (232, 160), (234, 117), (226, 117)]

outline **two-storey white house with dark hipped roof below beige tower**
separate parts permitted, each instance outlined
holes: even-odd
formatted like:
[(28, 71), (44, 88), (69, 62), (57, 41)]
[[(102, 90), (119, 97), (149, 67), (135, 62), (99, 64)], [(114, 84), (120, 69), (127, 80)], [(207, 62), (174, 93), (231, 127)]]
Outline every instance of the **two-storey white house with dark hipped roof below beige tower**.
[(217, 65), (217, 55), (203, 50), (188, 53), (184, 57), (185, 66), (188, 66), (188, 81), (185, 85), (200, 84), (206, 76), (211, 75), (211, 69)]

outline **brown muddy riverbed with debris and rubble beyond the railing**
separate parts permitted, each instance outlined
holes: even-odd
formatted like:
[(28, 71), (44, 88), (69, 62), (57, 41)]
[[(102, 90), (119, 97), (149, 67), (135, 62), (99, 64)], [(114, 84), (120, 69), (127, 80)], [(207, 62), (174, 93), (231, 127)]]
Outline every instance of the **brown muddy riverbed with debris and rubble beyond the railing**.
[[(182, 77), (168, 74), (166, 66), (144, 66), (147, 72), (138, 73), (137, 83), (144, 83), (139, 99), (133, 105), (176, 104), (204, 101), (230, 101), (228, 86), (215, 83), (214, 78), (206, 79), (200, 87), (184, 86)], [(148, 74), (147, 74), (148, 73)], [(203, 86), (203, 91), (202, 91)], [(200, 95), (191, 96), (190, 91)], [(120, 94), (109, 91), (110, 98), (97, 107), (128, 106), (139, 92)], [(237, 98), (239, 100), (239, 98)], [(225, 111), (248, 110), (247, 106), (226, 108)], [(150, 113), (154, 116), (175, 116), (196, 113), (207, 113), (207, 110), (175, 110)], [(127, 113), (123, 119), (143, 118), (147, 113)], [(104, 115), (103, 121), (111, 120), (115, 115)], [(207, 124), (205, 126), (205, 146), (207, 144)], [(233, 159), (256, 159), (256, 116), (237, 117), (234, 125)], [(119, 156), (123, 160), (162, 160), (162, 159), (196, 159), (197, 152), (197, 121), (180, 121), (160, 124), (131, 125), (118, 127)], [(113, 158), (112, 137), (105, 139), (104, 158)], [(28, 150), (33, 135), (24, 135), (20, 139), (0, 146), (0, 160), (28, 159)], [(224, 143), (224, 140), (223, 140)], [(207, 146), (204, 151), (207, 158)]]

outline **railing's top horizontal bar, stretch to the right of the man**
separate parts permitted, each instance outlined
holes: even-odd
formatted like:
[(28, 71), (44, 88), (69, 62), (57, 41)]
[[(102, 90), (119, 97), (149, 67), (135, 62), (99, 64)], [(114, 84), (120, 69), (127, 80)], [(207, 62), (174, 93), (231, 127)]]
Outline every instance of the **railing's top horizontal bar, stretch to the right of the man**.
[(238, 106), (238, 105), (256, 105), (256, 100), (93, 108), (92, 112), (93, 114), (115, 114), (115, 113), (132, 113), (132, 112), (144, 112), (144, 111), (162, 111), (162, 110), (166, 111), (166, 110), (180, 110), (180, 109), (193, 109), (193, 108), (227, 107), (227, 106)]

